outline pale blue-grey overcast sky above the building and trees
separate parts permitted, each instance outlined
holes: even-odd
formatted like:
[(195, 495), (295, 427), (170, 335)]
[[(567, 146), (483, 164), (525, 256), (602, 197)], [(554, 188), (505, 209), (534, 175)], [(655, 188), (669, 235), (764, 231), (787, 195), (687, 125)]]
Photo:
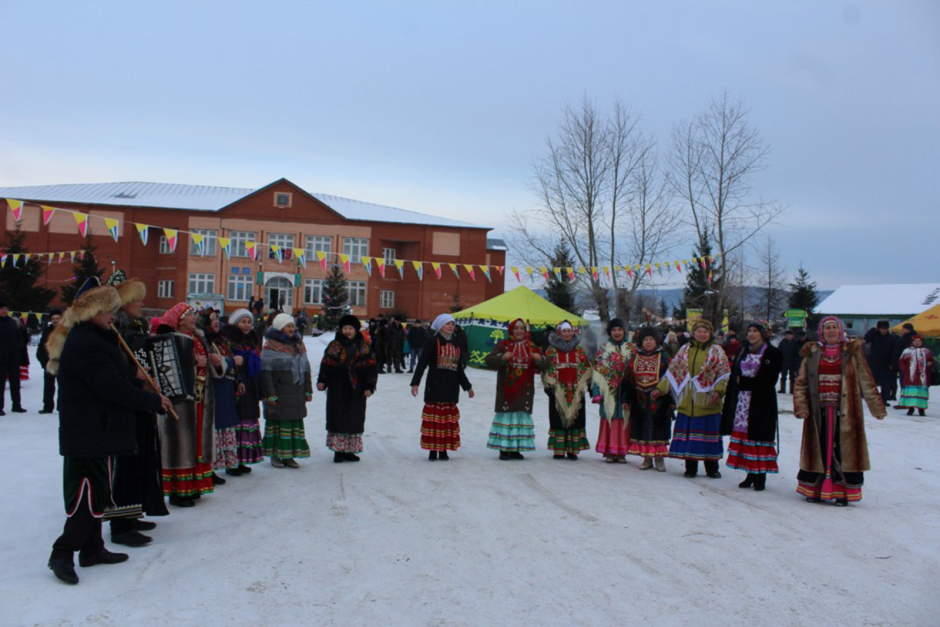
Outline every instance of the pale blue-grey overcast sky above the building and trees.
[(940, 280), (940, 2), (0, 0), (0, 24), (0, 186), (286, 177), (500, 236), (565, 105), (620, 98), (665, 145), (727, 90), (789, 274)]

